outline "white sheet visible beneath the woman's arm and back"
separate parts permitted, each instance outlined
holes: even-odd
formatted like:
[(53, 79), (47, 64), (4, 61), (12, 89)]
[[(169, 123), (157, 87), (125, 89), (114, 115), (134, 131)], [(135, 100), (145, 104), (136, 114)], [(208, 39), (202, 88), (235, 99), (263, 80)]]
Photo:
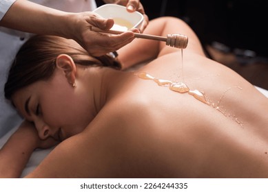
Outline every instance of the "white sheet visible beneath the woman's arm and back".
[[(258, 86), (256, 86), (256, 88), (258, 89), (258, 91), (260, 91), (260, 93), (262, 93), (263, 95), (265, 95), (266, 97), (268, 97), (268, 91), (265, 90), (264, 88), (260, 88)], [(12, 128), (12, 130), (10, 130), (7, 134), (5, 134), (5, 136), (3, 136), (0, 139), (0, 147), (3, 147), (4, 143), (6, 143), (6, 141), (8, 141), (8, 138), (12, 135), (12, 133), (17, 130), (17, 127)], [(37, 165), (39, 165), (39, 163), (41, 163), (41, 160), (43, 160), (43, 158), (45, 158), (45, 156), (47, 156), (53, 148), (51, 149), (38, 149), (36, 151), (34, 151), (34, 153), (32, 154), (28, 164), (26, 165), (25, 169), (23, 170), (23, 173), (21, 175), (21, 178), (23, 178), (24, 176), (26, 176), (28, 173), (30, 173), (35, 167), (37, 167)]]

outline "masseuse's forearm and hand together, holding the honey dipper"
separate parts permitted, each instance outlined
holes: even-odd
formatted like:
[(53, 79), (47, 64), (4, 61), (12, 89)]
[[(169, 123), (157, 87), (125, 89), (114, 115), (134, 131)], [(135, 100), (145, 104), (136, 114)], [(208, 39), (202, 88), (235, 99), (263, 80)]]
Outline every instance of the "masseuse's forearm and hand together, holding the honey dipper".
[(15, 1), (0, 21), (3, 27), (23, 32), (72, 38), (92, 56), (116, 51), (134, 40), (133, 32), (109, 35), (90, 31), (90, 25), (108, 30), (113, 24), (112, 19), (94, 12), (62, 12), (23, 0)]

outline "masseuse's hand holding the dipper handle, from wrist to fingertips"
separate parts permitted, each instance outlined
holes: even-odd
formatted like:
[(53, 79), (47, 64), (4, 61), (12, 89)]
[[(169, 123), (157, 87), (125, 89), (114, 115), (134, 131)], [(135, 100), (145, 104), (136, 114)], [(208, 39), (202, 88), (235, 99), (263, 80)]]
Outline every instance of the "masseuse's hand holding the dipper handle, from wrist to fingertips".
[(73, 14), (70, 19), (68, 37), (73, 38), (92, 56), (102, 56), (105, 53), (116, 51), (134, 40), (134, 33), (105, 34), (90, 31), (90, 25), (99, 29), (109, 30), (114, 25), (113, 19), (104, 19), (94, 12)]

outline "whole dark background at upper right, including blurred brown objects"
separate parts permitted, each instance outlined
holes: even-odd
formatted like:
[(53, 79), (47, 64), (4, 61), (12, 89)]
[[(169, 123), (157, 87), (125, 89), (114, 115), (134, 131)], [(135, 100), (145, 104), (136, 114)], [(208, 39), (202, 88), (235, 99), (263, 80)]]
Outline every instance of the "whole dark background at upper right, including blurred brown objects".
[[(96, 1), (102, 5), (102, 1)], [(268, 89), (267, 0), (141, 0), (149, 19), (176, 16), (200, 38), (207, 55)]]

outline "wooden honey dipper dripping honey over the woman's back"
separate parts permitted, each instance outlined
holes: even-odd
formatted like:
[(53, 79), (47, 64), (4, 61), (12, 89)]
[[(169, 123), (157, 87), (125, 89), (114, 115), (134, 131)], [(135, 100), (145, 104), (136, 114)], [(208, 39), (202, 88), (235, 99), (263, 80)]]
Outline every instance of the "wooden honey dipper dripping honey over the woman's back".
[[(90, 26), (90, 30), (93, 32), (101, 32), (101, 33), (106, 33), (106, 34), (122, 34), (123, 33), (123, 32), (115, 31), (115, 30), (104, 31), (94, 26)], [(176, 47), (179, 49), (185, 49), (188, 45), (188, 37), (182, 34), (167, 34), (167, 37), (164, 37), (164, 36), (154, 36), (154, 35), (149, 35), (149, 34), (134, 33), (134, 36), (136, 38), (161, 40), (161, 41), (164, 41), (166, 45), (169, 45), (170, 47)]]

